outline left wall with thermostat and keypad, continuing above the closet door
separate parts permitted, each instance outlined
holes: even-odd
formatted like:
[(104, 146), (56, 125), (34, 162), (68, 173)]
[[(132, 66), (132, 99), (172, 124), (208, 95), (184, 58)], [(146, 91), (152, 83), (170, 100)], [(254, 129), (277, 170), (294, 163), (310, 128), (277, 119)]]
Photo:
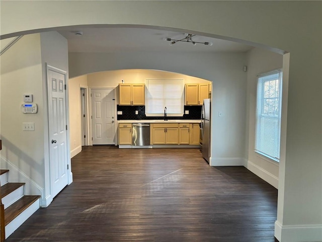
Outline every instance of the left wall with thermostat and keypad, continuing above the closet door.
[[(52, 198), (46, 63), (68, 70), (67, 40), (57, 32), (25, 35), (1, 62), (1, 167), (10, 169), (10, 181), (25, 182), (26, 194), (41, 195), (47, 206)], [(37, 113), (22, 113), (23, 94), (33, 94)], [(23, 131), (23, 123), (34, 123), (35, 131)]]

